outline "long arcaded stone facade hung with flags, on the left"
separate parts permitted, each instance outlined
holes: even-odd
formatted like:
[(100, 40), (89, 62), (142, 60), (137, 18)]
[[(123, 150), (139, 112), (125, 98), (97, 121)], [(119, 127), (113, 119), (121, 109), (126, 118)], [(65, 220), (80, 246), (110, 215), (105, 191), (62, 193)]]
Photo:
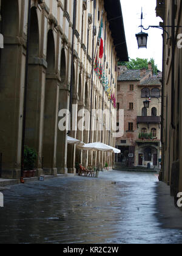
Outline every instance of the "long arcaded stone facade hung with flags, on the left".
[[(94, 2), (96, 2), (95, 9)], [(76, 18), (72, 54), (74, 3)], [(97, 45), (102, 13), (103, 24), (106, 24), (104, 26), (106, 51), (102, 63), (103, 65), (104, 61), (108, 63), (105, 71), (109, 80), (117, 80), (115, 68), (117, 60), (127, 59), (120, 58), (121, 52), (118, 56), (114, 47), (116, 38), (112, 37), (105, 5), (105, 1), (31, 1), (25, 144), (38, 152), (37, 175), (75, 172), (75, 162), (84, 165), (101, 163), (103, 166), (104, 162), (108, 162), (109, 166), (113, 165), (111, 154), (78, 152), (75, 146), (67, 145), (68, 131), (61, 132), (58, 129), (61, 119), (59, 110), (63, 108), (69, 110), (70, 95), (72, 103), (77, 105), (76, 112), (84, 108), (90, 113), (91, 91), (92, 108), (99, 108), (102, 104), (104, 109), (114, 108), (108, 101), (108, 94), (103, 90), (101, 80), (94, 73), (92, 84), (92, 76), (90, 76), (93, 49), (95, 50)], [(0, 7), (0, 34), (4, 38), (4, 49), (0, 49), (2, 177), (15, 178), (20, 176), (21, 169), (29, 1), (0, 0)], [(95, 21), (93, 21), (94, 14)], [(92, 41), (94, 23), (95, 37)], [(125, 37), (124, 28), (121, 30), (121, 34), (123, 33)], [(127, 52), (124, 55), (127, 56)], [(113, 92), (116, 90), (115, 83), (110, 83)], [(102, 120), (94, 115), (93, 113), (92, 124), (98, 127)], [(110, 115), (106, 119), (110, 120)], [(77, 121), (79, 119), (76, 116), (75, 124)], [(89, 131), (76, 129), (72, 129), (69, 135), (85, 143), (100, 141), (102, 136), (104, 143), (115, 146), (112, 130), (107, 130), (109, 125), (108, 122), (105, 123), (103, 133), (96, 129), (91, 133), (91, 137)]]

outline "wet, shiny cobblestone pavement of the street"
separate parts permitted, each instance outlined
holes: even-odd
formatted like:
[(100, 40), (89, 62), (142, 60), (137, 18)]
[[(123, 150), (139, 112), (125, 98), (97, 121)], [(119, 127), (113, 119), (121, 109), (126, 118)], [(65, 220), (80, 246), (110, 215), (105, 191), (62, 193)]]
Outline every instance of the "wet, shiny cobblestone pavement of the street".
[(173, 212), (165, 216), (165, 186), (152, 173), (118, 171), (13, 185), (3, 191), (0, 243), (182, 243)]

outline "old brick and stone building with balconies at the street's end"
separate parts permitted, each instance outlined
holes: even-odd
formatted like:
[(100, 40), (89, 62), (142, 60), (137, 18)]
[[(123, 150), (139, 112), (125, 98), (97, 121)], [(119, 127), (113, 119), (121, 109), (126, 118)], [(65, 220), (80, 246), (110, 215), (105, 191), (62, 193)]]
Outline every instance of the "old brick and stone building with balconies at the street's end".
[[(123, 165), (160, 165), (160, 79), (153, 76), (150, 63), (147, 70), (119, 68), (117, 102), (118, 110), (124, 110), (124, 135), (116, 139), (116, 147), (121, 149), (117, 161)], [(149, 98), (149, 108), (144, 108)]]

